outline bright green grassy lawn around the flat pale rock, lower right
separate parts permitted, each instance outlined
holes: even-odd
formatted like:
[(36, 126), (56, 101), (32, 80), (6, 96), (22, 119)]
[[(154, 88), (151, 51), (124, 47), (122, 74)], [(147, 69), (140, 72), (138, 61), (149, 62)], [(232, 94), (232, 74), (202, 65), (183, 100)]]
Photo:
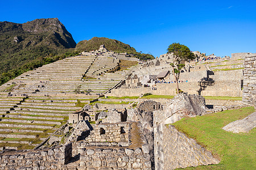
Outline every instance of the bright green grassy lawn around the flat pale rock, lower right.
[(220, 164), (189, 167), (186, 169), (256, 169), (256, 129), (249, 133), (234, 134), (222, 130), (230, 122), (241, 120), (254, 112), (253, 107), (182, 118), (173, 125), (179, 131), (195, 139), (213, 155)]

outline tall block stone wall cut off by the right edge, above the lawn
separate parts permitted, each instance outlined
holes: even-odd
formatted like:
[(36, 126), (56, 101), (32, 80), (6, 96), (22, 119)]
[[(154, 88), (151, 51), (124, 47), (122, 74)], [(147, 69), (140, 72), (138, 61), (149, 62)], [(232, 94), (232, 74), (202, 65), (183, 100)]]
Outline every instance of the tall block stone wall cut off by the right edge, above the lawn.
[(256, 54), (245, 58), (245, 69), (243, 70), (243, 104), (255, 107), (256, 97)]

